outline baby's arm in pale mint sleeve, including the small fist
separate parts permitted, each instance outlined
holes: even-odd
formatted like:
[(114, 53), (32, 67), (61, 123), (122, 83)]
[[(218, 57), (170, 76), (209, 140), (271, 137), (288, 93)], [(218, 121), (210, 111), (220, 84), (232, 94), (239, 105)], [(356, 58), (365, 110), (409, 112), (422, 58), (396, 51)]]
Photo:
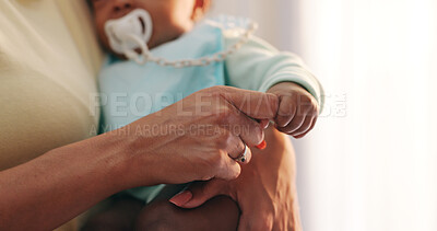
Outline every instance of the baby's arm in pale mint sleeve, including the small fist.
[[(236, 38), (225, 36), (225, 45)], [(323, 105), (323, 89), (300, 58), (281, 53), (252, 37), (226, 59), (228, 85), (276, 94), (280, 107), (275, 127), (295, 138), (304, 137), (316, 124)]]

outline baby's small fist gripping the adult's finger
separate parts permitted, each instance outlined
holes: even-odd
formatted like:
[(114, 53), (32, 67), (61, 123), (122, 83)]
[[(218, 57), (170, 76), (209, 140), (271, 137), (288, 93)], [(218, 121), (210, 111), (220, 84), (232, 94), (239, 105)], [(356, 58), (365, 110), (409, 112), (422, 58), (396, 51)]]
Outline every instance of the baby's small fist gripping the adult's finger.
[(268, 93), (280, 99), (274, 119), (277, 130), (299, 139), (314, 128), (319, 115), (319, 105), (303, 86), (293, 82), (282, 82), (269, 89)]

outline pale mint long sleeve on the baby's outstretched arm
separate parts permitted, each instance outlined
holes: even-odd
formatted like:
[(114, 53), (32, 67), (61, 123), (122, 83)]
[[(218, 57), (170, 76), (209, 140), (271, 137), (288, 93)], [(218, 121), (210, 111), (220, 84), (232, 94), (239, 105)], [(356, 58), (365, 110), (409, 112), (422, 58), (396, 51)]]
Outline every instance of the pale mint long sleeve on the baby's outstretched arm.
[[(225, 47), (238, 38), (225, 37)], [(267, 42), (252, 36), (238, 51), (226, 58), (226, 84), (265, 92), (280, 82), (294, 82), (304, 86), (323, 106), (323, 89), (303, 60), (292, 54), (279, 51)]]

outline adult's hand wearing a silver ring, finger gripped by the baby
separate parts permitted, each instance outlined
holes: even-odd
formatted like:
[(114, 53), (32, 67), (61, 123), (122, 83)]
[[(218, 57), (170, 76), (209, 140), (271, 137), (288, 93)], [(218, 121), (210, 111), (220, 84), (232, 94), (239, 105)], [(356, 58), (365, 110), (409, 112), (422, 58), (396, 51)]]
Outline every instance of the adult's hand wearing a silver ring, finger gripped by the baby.
[(213, 86), (111, 134), (129, 134), (130, 155), (141, 157), (129, 166), (135, 186), (234, 180), (241, 171), (235, 159), (245, 143), (263, 140), (267, 123), (259, 122), (276, 112), (273, 94)]

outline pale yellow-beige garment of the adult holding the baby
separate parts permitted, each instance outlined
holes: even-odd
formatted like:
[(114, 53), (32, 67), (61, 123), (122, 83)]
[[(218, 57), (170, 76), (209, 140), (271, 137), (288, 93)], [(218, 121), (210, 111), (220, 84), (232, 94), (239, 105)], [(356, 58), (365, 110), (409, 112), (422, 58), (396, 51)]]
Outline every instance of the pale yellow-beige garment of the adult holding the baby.
[(0, 171), (95, 135), (102, 57), (85, 0), (0, 1)]

